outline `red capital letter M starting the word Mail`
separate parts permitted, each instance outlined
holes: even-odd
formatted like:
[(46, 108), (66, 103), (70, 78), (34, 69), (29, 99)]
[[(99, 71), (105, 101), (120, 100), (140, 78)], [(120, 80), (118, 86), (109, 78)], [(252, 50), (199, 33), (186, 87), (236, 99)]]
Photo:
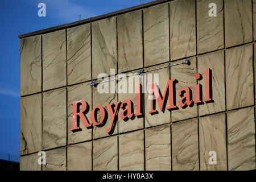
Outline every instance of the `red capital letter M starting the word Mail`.
[[(166, 84), (166, 90), (164, 91), (164, 96), (162, 97), (162, 94), (160, 93), (160, 88), (158, 89), (156, 84), (150, 85), (152, 88), (152, 97), (155, 94), (156, 101), (158, 101), (158, 105), (160, 107), (160, 110), (163, 111), (163, 105), (164, 101), (167, 100), (167, 92), (169, 93), (169, 106), (166, 109), (174, 109), (177, 106), (174, 104), (174, 81), (176, 79), (168, 80)], [(152, 99), (152, 98), (151, 98)], [(155, 100), (151, 100), (151, 111), (148, 113), (156, 113), (157, 111), (154, 109), (154, 102)]]

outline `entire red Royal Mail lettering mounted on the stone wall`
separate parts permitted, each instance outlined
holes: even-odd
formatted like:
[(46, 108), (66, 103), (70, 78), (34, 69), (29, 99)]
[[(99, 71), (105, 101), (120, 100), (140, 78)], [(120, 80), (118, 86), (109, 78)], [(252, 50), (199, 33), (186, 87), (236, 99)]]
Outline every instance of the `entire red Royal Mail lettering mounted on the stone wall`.
[[(208, 68), (207, 70), (204, 71), (205, 73), (205, 100), (204, 102), (207, 101), (212, 101), (212, 71)], [(196, 73), (195, 75), (196, 80), (201, 80), (202, 76), (200, 73)], [(155, 96), (155, 99), (151, 100), (151, 110), (149, 111), (149, 113), (156, 113), (156, 109), (155, 109), (155, 104), (156, 101), (158, 102), (158, 105), (160, 107), (160, 110), (163, 111), (164, 110), (164, 105), (167, 102), (167, 99), (169, 97), (169, 105), (166, 109), (175, 109), (177, 108), (176, 106), (176, 101), (174, 100), (174, 84), (175, 84), (176, 79), (172, 79), (172, 80), (168, 80), (167, 84), (166, 84), (166, 89), (164, 90), (164, 95), (162, 96), (160, 89), (158, 88), (158, 86), (156, 84), (151, 84), (149, 85), (152, 89), (152, 94), (151, 96)], [(180, 91), (179, 91), (179, 96), (181, 97), (180, 101), (179, 101), (179, 106), (183, 107), (183, 109), (185, 109), (185, 106), (192, 106), (193, 102), (195, 104), (199, 104), (202, 101), (202, 85), (200, 83), (198, 83), (196, 86), (194, 86), (195, 88), (195, 92), (196, 92), (196, 100), (193, 101), (192, 100), (192, 90), (191, 88), (189, 88), (188, 86), (183, 87)], [(108, 108), (109, 114), (110, 114), (110, 118), (112, 120), (112, 123), (110, 124), (110, 127), (108, 129), (106, 129), (106, 133), (109, 133), (111, 131), (113, 131), (113, 128), (115, 126), (115, 122), (117, 121), (117, 113), (119, 111), (119, 108), (121, 107), (123, 110), (120, 114), (120, 118), (121, 119), (129, 119), (132, 117), (137, 117), (139, 115), (143, 115), (143, 111), (142, 111), (142, 93), (141, 93), (141, 89), (142, 89), (142, 85), (139, 84), (136, 86), (137, 89), (137, 95), (136, 95), (136, 102), (137, 102), (137, 108), (136, 108), (136, 114), (134, 113), (134, 107), (133, 107), (133, 102), (129, 99), (121, 102), (115, 102), (112, 104), (107, 104), (106, 107)], [(80, 129), (79, 125), (77, 125), (77, 117), (81, 118), (82, 123), (84, 124), (85, 127), (91, 127), (92, 125), (90, 125), (88, 119), (85, 116), (85, 111), (89, 110), (89, 106), (87, 104), (87, 102), (85, 101), (77, 101), (77, 102), (71, 102), (71, 104), (73, 105), (73, 126), (72, 129), (70, 130), (77, 130)], [(82, 109), (78, 112), (78, 108), (79, 105), (81, 104)], [(101, 119), (98, 122), (97, 121), (97, 111), (100, 111), (101, 114)], [(104, 107), (102, 106), (96, 106), (93, 108), (91, 114), (90, 114), (90, 118), (92, 120), (92, 124), (93, 125), (104, 125), (105, 121), (106, 121), (106, 117), (107, 117), (107, 110), (104, 109)]]

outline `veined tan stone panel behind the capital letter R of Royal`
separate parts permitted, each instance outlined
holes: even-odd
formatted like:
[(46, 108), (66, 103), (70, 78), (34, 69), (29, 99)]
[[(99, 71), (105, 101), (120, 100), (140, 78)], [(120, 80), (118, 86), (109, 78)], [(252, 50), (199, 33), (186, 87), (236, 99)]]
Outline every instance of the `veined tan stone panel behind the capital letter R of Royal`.
[[(84, 127), (82, 120), (79, 116), (77, 116), (77, 125), (79, 125), (79, 131), (71, 131), (73, 126), (73, 105), (71, 102), (76, 101), (85, 101), (88, 103), (87, 107), (84, 112), (86, 118), (88, 119), (89, 123), (92, 124), (90, 121), (90, 113), (92, 111), (92, 88), (90, 86), (90, 82), (85, 82), (79, 85), (73, 85), (68, 87), (68, 144), (84, 142), (86, 140), (92, 139), (92, 129)], [(79, 112), (82, 109), (82, 105), (79, 106)]]

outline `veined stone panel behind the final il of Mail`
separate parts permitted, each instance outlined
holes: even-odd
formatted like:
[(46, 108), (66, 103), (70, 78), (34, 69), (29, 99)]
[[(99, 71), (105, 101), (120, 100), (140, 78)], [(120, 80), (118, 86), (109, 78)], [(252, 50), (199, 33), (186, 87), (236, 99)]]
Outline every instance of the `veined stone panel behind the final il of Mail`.
[[(233, 64), (233, 63), (232, 63)], [(204, 102), (205, 100), (205, 73), (208, 68), (212, 75), (212, 99), (213, 102)], [(199, 104), (199, 115), (218, 113), (225, 111), (225, 66), (224, 51), (218, 51), (197, 57), (197, 69), (203, 76), (198, 82), (202, 85), (202, 101)]]

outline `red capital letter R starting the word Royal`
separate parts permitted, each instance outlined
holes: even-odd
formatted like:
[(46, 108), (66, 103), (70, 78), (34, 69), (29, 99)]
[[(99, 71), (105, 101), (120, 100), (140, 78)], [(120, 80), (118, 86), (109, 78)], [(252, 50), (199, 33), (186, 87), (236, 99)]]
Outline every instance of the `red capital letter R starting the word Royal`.
[[(77, 113), (77, 104), (81, 104), (82, 105), (82, 109), (80, 110), (79, 113)], [(79, 115), (80, 119), (82, 120), (82, 123), (84, 124), (84, 127), (90, 127), (92, 125), (90, 125), (88, 119), (86, 118), (86, 116), (84, 115), (84, 111), (87, 109), (88, 107), (88, 103), (86, 101), (77, 101), (77, 102), (71, 102), (70, 104), (73, 105), (73, 126), (72, 130), (78, 130), (80, 129), (80, 127), (77, 126), (77, 116)]]

